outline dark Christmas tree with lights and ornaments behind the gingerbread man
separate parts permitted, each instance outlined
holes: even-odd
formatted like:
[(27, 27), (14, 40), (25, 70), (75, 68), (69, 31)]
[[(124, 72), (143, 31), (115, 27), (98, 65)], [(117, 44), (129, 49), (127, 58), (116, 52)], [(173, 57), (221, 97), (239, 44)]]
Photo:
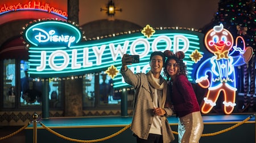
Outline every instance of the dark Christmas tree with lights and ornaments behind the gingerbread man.
[(222, 23), (234, 37), (242, 36), (246, 46), (256, 50), (255, 0), (220, 0), (213, 21), (202, 29), (207, 32), (214, 25)]

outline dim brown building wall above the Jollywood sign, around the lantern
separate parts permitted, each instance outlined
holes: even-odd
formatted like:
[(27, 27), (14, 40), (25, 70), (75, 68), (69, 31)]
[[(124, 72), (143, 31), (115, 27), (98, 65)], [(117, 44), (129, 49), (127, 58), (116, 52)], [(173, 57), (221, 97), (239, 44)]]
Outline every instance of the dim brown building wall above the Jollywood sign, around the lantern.
[[(218, 11), (219, 0), (114, 0), (117, 11), (114, 18), (131, 21), (144, 27), (203, 28)], [(108, 0), (80, 0), (80, 25), (94, 20), (107, 19)]]

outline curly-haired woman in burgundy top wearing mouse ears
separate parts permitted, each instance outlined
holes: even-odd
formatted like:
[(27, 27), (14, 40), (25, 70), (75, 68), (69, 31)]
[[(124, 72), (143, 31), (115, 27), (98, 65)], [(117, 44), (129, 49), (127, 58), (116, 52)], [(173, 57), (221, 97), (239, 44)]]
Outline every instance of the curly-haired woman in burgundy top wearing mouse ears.
[(197, 143), (203, 133), (204, 124), (196, 94), (187, 78), (187, 67), (183, 63), (185, 54), (182, 51), (174, 54), (167, 50), (164, 55), (167, 57), (164, 75), (168, 80), (168, 92), (171, 92), (174, 111), (179, 117), (179, 143)]

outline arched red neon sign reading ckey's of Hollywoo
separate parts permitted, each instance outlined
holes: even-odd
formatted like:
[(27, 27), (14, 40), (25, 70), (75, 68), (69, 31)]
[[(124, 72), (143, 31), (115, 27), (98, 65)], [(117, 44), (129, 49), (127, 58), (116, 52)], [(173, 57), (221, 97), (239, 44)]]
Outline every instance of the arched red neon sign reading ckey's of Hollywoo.
[(42, 2), (35, 2), (35, 1), (28, 1), (24, 3), (16, 3), (16, 4), (3, 4), (0, 7), (0, 15), (6, 14), (7, 12), (12, 11), (21, 11), (21, 10), (37, 10), (37, 11), (45, 11), (48, 13), (52, 13), (55, 15), (62, 16), (64, 19), (67, 19), (68, 13), (63, 10), (59, 10), (55, 7), (50, 6), (49, 3), (42, 3)]

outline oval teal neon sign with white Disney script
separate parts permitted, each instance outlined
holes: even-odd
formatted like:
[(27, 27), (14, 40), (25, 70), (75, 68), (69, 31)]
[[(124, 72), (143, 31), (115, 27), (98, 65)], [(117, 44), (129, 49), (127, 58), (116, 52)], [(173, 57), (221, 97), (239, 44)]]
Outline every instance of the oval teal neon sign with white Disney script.
[(70, 47), (74, 42), (77, 43), (81, 40), (79, 29), (60, 21), (48, 21), (47, 23), (32, 25), (27, 28), (25, 36), (31, 46)]

